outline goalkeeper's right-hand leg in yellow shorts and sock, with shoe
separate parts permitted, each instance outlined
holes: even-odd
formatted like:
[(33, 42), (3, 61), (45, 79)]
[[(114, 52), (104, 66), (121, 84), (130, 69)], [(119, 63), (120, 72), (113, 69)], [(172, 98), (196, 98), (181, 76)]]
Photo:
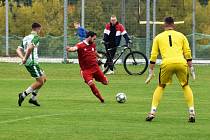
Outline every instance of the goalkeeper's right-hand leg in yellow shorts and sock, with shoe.
[(176, 75), (184, 91), (185, 100), (189, 108), (189, 122), (195, 122), (193, 92), (188, 84), (189, 80), (188, 66), (183, 64), (178, 65)]

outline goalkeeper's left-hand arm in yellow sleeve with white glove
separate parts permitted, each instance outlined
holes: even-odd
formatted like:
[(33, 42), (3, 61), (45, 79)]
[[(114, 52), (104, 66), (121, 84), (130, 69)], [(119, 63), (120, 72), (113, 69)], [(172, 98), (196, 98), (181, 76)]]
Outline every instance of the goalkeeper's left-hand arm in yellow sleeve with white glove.
[(149, 65), (149, 75), (145, 81), (146, 84), (148, 84), (154, 77), (154, 67), (158, 54), (159, 54), (158, 41), (157, 38), (155, 38), (152, 45), (152, 52), (151, 52), (150, 65)]

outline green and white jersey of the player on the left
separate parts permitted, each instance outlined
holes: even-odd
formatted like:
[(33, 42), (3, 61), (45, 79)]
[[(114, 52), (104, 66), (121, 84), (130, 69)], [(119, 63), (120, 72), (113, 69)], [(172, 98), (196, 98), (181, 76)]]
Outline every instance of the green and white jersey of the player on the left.
[(30, 35), (23, 38), (21, 45), (19, 46), (21, 49), (26, 52), (27, 47), (30, 44), (33, 44), (35, 47), (32, 50), (30, 56), (26, 61), (26, 66), (37, 65), (38, 64), (38, 46), (39, 46), (40, 38), (36, 32), (32, 31)]

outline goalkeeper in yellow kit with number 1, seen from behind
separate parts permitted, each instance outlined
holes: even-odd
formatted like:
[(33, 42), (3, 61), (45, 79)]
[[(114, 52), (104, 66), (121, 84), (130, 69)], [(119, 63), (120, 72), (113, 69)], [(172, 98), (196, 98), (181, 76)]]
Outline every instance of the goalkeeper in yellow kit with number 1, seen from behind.
[(146, 84), (154, 76), (154, 66), (159, 53), (162, 57), (162, 63), (159, 73), (159, 85), (154, 91), (151, 112), (148, 114), (146, 121), (152, 121), (155, 118), (163, 91), (166, 85), (172, 82), (172, 76), (175, 74), (182, 86), (189, 107), (189, 122), (195, 122), (193, 93), (188, 84), (189, 70), (193, 79), (195, 79), (191, 50), (187, 38), (182, 33), (175, 31), (174, 28), (173, 18), (165, 18), (165, 31), (157, 35), (153, 41), (149, 76), (145, 81)]

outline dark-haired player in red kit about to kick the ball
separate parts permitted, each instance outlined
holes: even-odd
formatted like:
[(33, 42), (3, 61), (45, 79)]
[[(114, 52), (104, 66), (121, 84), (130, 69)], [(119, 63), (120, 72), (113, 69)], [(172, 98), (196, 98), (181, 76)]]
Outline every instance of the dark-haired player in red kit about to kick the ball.
[(101, 82), (104, 85), (108, 84), (108, 79), (103, 74), (98, 66), (97, 57), (99, 57), (96, 51), (96, 33), (89, 31), (86, 35), (86, 39), (76, 44), (74, 47), (66, 47), (68, 52), (78, 53), (79, 65), (81, 68), (81, 76), (84, 78), (85, 83), (91, 88), (93, 94), (104, 103), (104, 99), (97, 89), (93, 79)]

